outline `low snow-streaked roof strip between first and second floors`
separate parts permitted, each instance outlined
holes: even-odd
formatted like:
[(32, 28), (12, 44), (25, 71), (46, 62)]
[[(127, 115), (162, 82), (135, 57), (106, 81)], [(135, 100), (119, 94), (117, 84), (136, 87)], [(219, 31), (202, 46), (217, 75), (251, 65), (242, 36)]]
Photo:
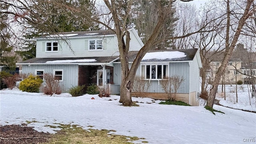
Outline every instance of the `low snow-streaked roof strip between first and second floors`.
[(81, 65), (101, 65), (110, 64), (119, 56), (107, 57), (83, 57), (83, 58), (32, 58), (17, 64), (81, 64)]

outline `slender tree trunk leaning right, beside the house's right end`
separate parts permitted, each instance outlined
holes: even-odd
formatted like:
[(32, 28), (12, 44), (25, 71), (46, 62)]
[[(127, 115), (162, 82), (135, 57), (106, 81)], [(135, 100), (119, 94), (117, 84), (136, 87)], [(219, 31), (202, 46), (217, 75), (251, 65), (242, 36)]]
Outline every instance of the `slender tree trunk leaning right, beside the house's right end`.
[(216, 76), (214, 78), (212, 89), (210, 90), (210, 94), (209, 94), (208, 100), (207, 100), (207, 106), (210, 106), (211, 108), (213, 107), (213, 104), (214, 104), (214, 100), (215, 100), (215, 96), (216, 96), (216, 93), (217, 93), (217, 90), (218, 90), (218, 84), (220, 82), (220, 78), (221, 78), (222, 74), (224, 73), (225, 68), (228, 64), (228, 60), (230, 59), (230, 56), (232, 55), (232, 52), (233, 52), (233, 50), (236, 46), (236, 42), (238, 41), (238, 37), (239, 37), (239, 35), (241, 33), (241, 30), (242, 30), (242, 28), (245, 24), (245, 21), (249, 16), (251, 16), (253, 14), (252, 11), (249, 12), (252, 2), (253, 2), (253, 0), (247, 0), (247, 5), (246, 5), (246, 8), (244, 10), (244, 14), (238, 22), (238, 27), (236, 29), (236, 33), (234, 34), (234, 38), (233, 38), (229, 48), (227, 48), (225, 50), (224, 59), (222, 60), (222, 64), (218, 68), (218, 71), (217, 71)]

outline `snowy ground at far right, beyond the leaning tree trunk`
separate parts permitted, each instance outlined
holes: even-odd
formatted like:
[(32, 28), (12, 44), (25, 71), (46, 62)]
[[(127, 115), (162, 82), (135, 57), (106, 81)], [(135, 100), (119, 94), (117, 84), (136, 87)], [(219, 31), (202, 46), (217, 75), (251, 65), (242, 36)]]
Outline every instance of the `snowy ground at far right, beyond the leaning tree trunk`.
[(219, 93), (216, 95), (216, 99), (220, 100), (219, 104), (230, 108), (256, 112), (256, 99), (255, 97), (252, 98), (252, 94), (250, 93), (251, 85), (237, 85), (238, 102), (236, 102), (236, 85), (230, 86), (228, 84), (225, 87), (226, 100), (224, 100), (224, 94), (221, 94), (222, 86), (218, 86)]

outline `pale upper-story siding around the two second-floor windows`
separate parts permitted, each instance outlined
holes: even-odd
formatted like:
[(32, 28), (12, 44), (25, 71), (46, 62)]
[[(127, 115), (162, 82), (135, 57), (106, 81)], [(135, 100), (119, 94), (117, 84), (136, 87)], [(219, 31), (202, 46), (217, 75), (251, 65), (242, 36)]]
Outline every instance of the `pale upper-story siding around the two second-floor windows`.
[[(116, 55), (116, 50), (114, 50), (114, 36), (106, 36), (103, 38), (103, 50), (88, 50), (88, 40), (98, 40), (102, 38), (103, 37), (37, 40), (36, 58), (102, 57)], [(48, 41), (58, 41), (58, 52), (46, 52), (45, 45)]]

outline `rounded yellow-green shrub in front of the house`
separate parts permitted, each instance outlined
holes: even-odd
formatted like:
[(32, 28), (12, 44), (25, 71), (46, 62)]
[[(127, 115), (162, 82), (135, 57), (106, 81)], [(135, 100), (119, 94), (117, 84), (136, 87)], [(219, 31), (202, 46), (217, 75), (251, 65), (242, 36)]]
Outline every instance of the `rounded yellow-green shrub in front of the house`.
[(23, 92), (39, 92), (39, 88), (43, 82), (39, 76), (30, 74), (30, 76), (20, 82), (19, 89)]

